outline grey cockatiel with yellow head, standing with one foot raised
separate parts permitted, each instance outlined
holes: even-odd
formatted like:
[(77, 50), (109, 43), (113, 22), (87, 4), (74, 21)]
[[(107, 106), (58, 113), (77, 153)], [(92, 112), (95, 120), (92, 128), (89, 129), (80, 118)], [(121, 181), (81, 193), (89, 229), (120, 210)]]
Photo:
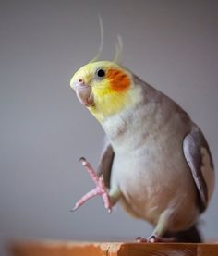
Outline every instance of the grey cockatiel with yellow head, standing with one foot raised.
[(121, 201), (154, 226), (151, 237), (139, 241), (200, 242), (196, 224), (214, 188), (212, 155), (200, 128), (173, 100), (115, 62), (81, 67), (70, 86), (107, 138), (98, 175), (81, 158), (97, 187), (74, 210), (102, 195), (109, 212)]

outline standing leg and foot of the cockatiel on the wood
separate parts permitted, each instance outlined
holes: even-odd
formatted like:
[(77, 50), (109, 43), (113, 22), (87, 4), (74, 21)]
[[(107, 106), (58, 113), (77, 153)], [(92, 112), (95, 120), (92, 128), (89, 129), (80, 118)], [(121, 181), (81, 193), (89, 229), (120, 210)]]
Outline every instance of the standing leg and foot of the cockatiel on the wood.
[(175, 242), (175, 238), (163, 238), (163, 234), (169, 226), (169, 222), (172, 218), (172, 211), (165, 210), (157, 223), (157, 226), (154, 228), (151, 236), (149, 238), (136, 238), (137, 242), (146, 242), (146, 243), (155, 243), (155, 242)]

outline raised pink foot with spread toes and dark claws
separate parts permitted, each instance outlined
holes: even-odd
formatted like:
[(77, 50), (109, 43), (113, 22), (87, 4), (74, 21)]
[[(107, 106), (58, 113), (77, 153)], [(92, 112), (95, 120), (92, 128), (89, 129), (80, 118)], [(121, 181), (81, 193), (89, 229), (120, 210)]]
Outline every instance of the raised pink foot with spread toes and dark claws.
[(81, 157), (79, 159), (79, 161), (86, 168), (88, 173), (91, 175), (92, 180), (96, 184), (96, 188), (92, 189), (90, 192), (85, 194), (79, 201), (77, 201), (75, 204), (75, 207), (71, 211), (72, 212), (76, 211), (82, 204), (84, 204), (86, 201), (90, 200), (92, 197), (101, 195), (103, 197), (104, 207), (108, 210), (108, 213), (111, 213), (112, 203), (111, 203), (111, 199), (108, 194), (107, 188), (104, 185), (103, 175), (98, 177), (98, 175), (92, 168), (91, 164), (84, 157)]

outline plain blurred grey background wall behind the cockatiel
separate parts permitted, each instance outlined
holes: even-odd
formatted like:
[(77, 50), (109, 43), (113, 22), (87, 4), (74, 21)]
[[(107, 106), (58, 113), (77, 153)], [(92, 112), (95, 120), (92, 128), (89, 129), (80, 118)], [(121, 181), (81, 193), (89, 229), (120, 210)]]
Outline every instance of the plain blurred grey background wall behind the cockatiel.
[[(0, 239), (133, 240), (151, 226), (101, 198), (69, 210), (94, 187), (79, 165), (96, 166), (103, 129), (79, 104), (69, 79), (97, 52), (175, 99), (200, 125), (218, 166), (218, 2), (0, 1)], [(217, 189), (200, 228), (218, 238)], [(188, 213), (188, 209), (187, 209)], [(3, 252), (2, 252), (3, 254)]]

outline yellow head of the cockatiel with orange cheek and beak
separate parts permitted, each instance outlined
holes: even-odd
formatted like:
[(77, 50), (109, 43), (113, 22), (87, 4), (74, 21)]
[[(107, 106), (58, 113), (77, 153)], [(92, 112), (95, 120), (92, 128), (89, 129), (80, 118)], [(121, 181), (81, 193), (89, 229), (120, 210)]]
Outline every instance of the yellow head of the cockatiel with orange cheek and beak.
[(110, 61), (89, 63), (70, 80), (81, 104), (103, 122), (134, 104), (132, 74), (126, 68)]

